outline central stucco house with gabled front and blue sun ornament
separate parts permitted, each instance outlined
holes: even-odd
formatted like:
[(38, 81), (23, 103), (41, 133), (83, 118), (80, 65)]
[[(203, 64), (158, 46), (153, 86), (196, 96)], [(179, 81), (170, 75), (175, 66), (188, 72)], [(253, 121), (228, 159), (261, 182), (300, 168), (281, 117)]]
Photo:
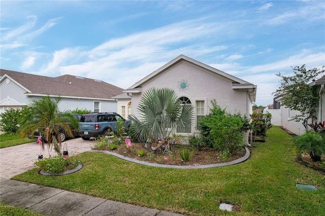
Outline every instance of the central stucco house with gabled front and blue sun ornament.
[(185, 131), (175, 131), (183, 136), (200, 133), (198, 122), (209, 113), (211, 100), (215, 99), (222, 109), (226, 108), (231, 114), (240, 113), (249, 117), (256, 97), (255, 85), (180, 55), (127, 88), (124, 94), (114, 97), (118, 99), (118, 110), (139, 117), (137, 107), (141, 95), (152, 87), (171, 88), (183, 104), (194, 106), (192, 126)]

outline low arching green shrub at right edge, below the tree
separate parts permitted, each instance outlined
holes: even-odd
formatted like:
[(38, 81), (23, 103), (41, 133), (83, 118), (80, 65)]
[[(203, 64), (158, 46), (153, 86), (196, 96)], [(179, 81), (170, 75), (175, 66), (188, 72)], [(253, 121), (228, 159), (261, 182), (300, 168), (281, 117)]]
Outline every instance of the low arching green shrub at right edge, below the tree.
[(306, 151), (313, 161), (320, 161), (325, 153), (325, 136), (313, 131), (295, 137), (295, 144), (300, 151)]

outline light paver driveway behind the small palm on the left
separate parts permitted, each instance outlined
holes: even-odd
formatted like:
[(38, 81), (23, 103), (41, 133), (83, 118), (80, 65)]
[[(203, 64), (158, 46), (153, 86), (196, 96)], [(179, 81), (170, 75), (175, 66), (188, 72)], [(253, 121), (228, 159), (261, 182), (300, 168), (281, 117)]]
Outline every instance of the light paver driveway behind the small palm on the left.
[[(69, 139), (62, 143), (62, 148), (64, 143), (67, 143), (69, 155), (73, 155), (90, 150), (94, 141), (82, 138)], [(44, 150), (41, 150), (37, 141), (0, 149), (0, 178), (9, 179), (34, 168), (34, 162), (37, 161), (40, 153), (46, 158), (49, 157), (47, 145)], [(56, 155), (54, 150), (50, 154)]]

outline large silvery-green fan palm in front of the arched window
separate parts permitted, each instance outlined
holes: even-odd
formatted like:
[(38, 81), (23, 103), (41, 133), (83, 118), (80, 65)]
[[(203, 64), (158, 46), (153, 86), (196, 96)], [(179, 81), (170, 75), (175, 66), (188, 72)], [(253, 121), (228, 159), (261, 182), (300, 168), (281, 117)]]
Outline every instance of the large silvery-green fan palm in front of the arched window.
[(151, 88), (140, 99), (140, 119), (132, 115), (132, 133), (139, 140), (156, 142), (170, 136), (174, 130), (184, 130), (192, 124), (194, 108), (181, 105), (177, 94), (169, 88)]

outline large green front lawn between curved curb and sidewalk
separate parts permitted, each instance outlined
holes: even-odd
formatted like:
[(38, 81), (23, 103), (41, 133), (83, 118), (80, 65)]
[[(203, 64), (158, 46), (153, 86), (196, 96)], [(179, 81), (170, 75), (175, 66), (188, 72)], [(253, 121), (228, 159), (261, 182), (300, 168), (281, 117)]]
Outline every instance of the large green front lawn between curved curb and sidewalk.
[[(266, 142), (254, 143), (240, 164), (207, 169), (169, 169), (134, 164), (103, 153), (74, 157), (75, 173), (43, 176), (32, 169), (13, 179), (149, 208), (189, 215), (322, 215), (325, 175), (295, 162), (293, 138), (279, 127)], [(299, 190), (296, 184), (317, 191)], [(231, 203), (238, 212), (219, 209)]]

